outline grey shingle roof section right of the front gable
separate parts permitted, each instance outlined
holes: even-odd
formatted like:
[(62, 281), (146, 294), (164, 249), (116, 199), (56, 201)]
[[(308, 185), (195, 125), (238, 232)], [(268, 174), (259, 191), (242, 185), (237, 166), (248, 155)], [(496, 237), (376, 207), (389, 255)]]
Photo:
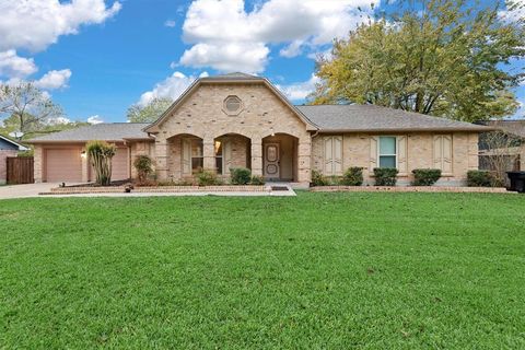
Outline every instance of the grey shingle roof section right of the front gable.
[(376, 105), (295, 106), (322, 132), (487, 131), (493, 128)]

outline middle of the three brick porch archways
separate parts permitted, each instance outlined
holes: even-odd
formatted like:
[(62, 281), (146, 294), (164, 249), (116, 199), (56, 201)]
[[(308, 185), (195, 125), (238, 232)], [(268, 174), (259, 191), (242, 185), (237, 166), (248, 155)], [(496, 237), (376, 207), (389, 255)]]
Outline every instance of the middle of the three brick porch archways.
[(224, 133), (213, 139), (215, 173), (229, 177), (234, 167), (252, 168), (252, 141), (240, 133)]

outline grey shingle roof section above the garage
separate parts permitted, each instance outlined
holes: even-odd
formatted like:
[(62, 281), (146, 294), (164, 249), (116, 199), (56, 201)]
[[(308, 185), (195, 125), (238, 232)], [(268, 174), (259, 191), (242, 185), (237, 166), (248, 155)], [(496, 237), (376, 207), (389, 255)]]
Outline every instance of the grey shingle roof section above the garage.
[(124, 141), (125, 139), (150, 139), (148, 133), (142, 131), (148, 122), (102, 122), (60, 132), (48, 133), (28, 140), (30, 143), (39, 142), (65, 142), (65, 141)]

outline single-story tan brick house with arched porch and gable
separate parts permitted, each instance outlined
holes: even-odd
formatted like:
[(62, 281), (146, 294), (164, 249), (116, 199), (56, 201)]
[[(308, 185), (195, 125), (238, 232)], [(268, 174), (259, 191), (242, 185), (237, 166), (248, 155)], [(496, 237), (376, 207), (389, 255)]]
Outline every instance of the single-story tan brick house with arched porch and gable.
[(478, 135), (489, 127), (373, 105), (294, 106), (267, 79), (231, 73), (198, 79), (153, 124), (100, 124), (31, 140), (36, 182), (94, 178), (85, 142), (118, 147), (114, 179), (135, 177), (133, 159), (150, 155), (159, 179), (199, 170), (228, 176), (248, 167), (267, 180), (310, 183), (317, 170), (342, 175), (362, 166), (395, 166), (408, 184), (413, 168), (441, 168), (460, 184), (478, 168)]

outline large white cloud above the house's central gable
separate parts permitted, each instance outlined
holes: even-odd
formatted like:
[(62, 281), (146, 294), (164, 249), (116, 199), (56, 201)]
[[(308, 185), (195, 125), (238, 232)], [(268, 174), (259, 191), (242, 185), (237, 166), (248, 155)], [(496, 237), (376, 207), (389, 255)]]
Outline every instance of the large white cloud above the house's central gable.
[(183, 25), (194, 46), (180, 63), (261, 72), (270, 45), (285, 44), (281, 56), (294, 57), (346, 36), (371, 13), (370, 0), (269, 0), (250, 12), (244, 0), (196, 0)]

